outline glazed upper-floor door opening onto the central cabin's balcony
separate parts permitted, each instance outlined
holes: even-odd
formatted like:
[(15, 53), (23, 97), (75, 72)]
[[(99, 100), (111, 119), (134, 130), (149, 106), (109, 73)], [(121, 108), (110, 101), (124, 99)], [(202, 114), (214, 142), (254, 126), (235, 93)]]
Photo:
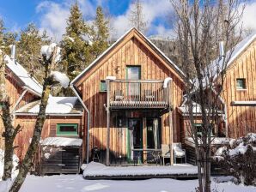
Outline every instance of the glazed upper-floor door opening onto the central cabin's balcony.
[[(141, 68), (140, 66), (127, 66), (126, 67), (126, 79), (127, 80), (140, 80)], [(127, 87), (127, 96), (131, 101), (139, 99), (140, 95), (140, 83), (129, 82)]]

